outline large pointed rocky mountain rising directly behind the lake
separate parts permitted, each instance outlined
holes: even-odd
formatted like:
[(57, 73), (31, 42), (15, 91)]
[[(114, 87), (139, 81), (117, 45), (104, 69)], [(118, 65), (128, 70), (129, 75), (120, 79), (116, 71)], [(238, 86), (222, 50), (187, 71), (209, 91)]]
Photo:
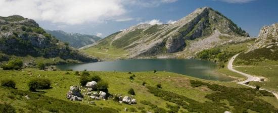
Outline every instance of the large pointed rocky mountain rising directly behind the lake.
[(100, 40), (92, 47), (84, 48), (84, 51), (91, 53), (90, 50), (105, 48), (100, 52), (106, 53), (113, 48), (125, 51), (129, 58), (188, 58), (203, 49), (241, 42), (248, 39), (246, 37), (249, 34), (230, 19), (204, 7), (174, 24), (132, 26)]

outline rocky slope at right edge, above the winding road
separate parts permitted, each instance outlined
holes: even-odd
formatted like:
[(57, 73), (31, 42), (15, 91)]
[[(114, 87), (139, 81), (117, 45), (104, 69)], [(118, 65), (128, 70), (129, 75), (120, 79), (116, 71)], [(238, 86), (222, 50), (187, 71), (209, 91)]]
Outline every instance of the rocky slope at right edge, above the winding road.
[(247, 52), (239, 54), (238, 62), (278, 61), (278, 23), (261, 28), (258, 38)]

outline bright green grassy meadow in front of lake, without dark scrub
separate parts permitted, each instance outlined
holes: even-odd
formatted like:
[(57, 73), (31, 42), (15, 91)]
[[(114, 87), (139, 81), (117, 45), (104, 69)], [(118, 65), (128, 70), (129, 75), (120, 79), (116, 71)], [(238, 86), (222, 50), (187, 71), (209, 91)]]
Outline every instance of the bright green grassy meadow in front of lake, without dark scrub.
[[(29, 71), (33, 73), (32, 76), (27, 75)], [(31, 78), (36, 78), (36, 77), (48, 78), (52, 81), (53, 88), (49, 90), (41, 90), (41, 91), (45, 91), (44, 95), (56, 99), (60, 99), (60, 100), (65, 100), (68, 102), (69, 100), (66, 99), (66, 92), (69, 90), (69, 87), (71, 85), (78, 84), (79, 81), (78, 79), (79, 76), (74, 76), (73, 72), (70, 72), (72, 75), (63, 75), (64, 73), (63, 71), (45, 72), (45, 71), (36, 71), (30, 69), (24, 71), (0, 70), (0, 73), (1, 73), (0, 80), (9, 78), (17, 81), (16, 87), (18, 88), (18, 90), (28, 90), (27, 82)], [(165, 108), (165, 109), (168, 109), (166, 108), (166, 103), (170, 103), (174, 105), (174, 103), (167, 102), (149, 93), (148, 89), (145, 86), (141, 85), (143, 81), (146, 81), (147, 85), (152, 87), (156, 87), (156, 84), (161, 83), (163, 90), (171, 91), (189, 97), (191, 99), (197, 100), (199, 102), (210, 101), (204, 96), (212, 93), (212, 91), (206, 87), (196, 87), (196, 88), (191, 87), (189, 80), (201, 80), (201, 79), (175, 74), (175, 73), (158, 72), (158, 74), (154, 74), (153, 72), (138, 72), (138, 73), (134, 73), (136, 75), (134, 80), (129, 80), (130, 74), (121, 73), (121, 72), (90, 72), (90, 74), (99, 75), (102, 77), (103, 80), (107, 81), (109, 83), (109, 91), (112, 94), (120, 93), (123, 95), (128, 95), (127, 91), (129, 88), (133, 88), (135, 90), (136, 95), (134, 96), (134, 98), (138, 102), (135, 105), (119, 104), (118, 102), (112, 101), (111, 99), (107, 101), (104, 100), (96, 101), (96, 104), (99, 107), (111, 107), (114, 109), (118, 109), (120, 112), (123, 112), (123, 109), (125, 107), (129, 109), (145, 107), (146, 110), (153, 111), (151, 110), (150, 106), (140, 103), (141, 100), (151, 101), (153, 104), (158, 105), (158, 107)], [(201, 80), (201, 81), (222, 84), (229, 87), (244, 87), (244, 86), (239, 86), (238, 84), (235, 83), (228, 83), (228, 82), (216, 82), (216, 81), (206, 81), (206, 80)], [(4, 92), (1, 92), (0, 94), (5, 93), (5, 91), (6, 90), (4, 90)], [(274, 97), (262, 97), (262, 98), (269, 100), (268, 102), (272, 103), (278, 108), (277, 104), (275, 104), (278, 101), (276, 101)], [(78, 101), (73, 103), (81, 103), (87, 105), (88, 100), (89, 99), (85, 97), (84, 101), (81, 102)], [(1, 101), (7, 101), (8, 103), (12, 103), (12, 105), (15, 105), (16, 108), (22, 108), (23, 110), (25, 109), (24, 107), (25, 101), (23, 100), (17, 100), (17, 101), (13, 99), (7, 100), (7, 97), (4, 97), (4, 98), (0, 98), (0, 102)], [(90, 106), (94, 106), (94, 105), (90, 105)], [(180, 110), (182, 109), (183, 108), (180, 108)], [(137, 109), (137, 111), (140, 110)]]

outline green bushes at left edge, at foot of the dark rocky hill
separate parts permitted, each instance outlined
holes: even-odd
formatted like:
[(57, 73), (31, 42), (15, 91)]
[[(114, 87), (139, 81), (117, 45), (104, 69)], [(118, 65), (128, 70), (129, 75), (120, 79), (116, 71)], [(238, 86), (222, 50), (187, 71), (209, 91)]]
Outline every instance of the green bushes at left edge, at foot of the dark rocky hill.
[(23, 62), (20, 59), (10, 60), (8, 64), (3, 65), (3, 70), (20, 70), (23, 66)]

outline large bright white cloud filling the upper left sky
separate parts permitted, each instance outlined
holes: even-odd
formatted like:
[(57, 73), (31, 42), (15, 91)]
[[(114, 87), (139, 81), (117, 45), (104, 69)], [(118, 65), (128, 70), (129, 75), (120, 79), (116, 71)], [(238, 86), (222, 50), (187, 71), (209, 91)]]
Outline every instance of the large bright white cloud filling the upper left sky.
[(82, 24), (121, 16), (121, 0), (0, 0), (0, 15), (21, 15), (53, 23)]

